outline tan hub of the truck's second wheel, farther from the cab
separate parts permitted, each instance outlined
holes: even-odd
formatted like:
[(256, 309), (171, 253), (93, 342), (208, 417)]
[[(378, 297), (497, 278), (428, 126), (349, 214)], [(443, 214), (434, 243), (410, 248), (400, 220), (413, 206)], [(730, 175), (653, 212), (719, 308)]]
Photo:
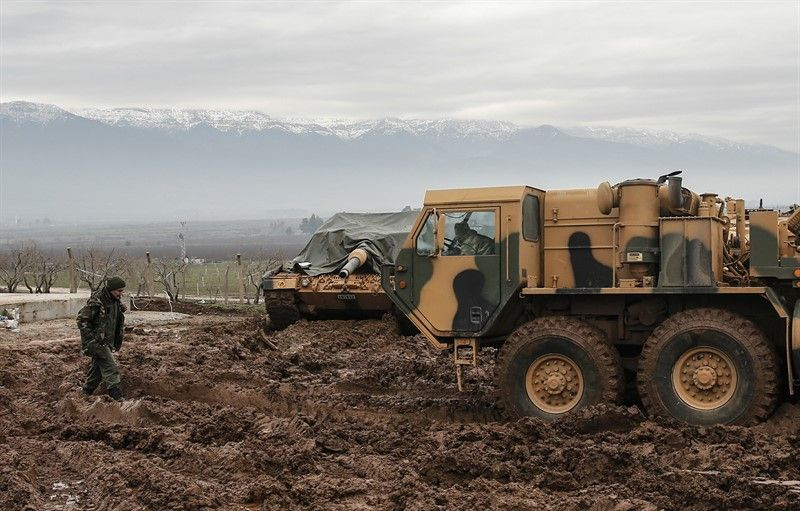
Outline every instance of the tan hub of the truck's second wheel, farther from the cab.
[(722, 351), (709, 346), (684, 353), (672, 371), (678, 397), (701, 410), (713, 410), (727, 403), (736, 389), (736, 367)]

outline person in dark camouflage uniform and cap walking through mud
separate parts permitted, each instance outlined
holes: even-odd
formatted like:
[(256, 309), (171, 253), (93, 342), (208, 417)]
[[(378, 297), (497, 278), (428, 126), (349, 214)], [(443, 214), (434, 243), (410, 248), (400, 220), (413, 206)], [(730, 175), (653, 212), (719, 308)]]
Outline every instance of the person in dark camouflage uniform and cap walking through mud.
[(81, 351), (92, 357), (83, 392), (91, 395), (103, 381), (108, 395), (116, 401), (122, 401), (122, 390), (119, 387), (119, 368), (111, 352), (119, 351), (122, 347), (125, 306), (119, 299), (124, 288), (124, 280), (111, 277), (104, 287), (92, 293), (78, 313)]

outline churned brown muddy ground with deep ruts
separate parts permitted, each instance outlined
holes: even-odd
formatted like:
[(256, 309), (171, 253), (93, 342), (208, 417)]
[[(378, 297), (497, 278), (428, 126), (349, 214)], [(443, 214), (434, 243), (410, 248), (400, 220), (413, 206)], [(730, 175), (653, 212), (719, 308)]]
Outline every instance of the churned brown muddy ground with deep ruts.
[(259, 317), (181, 312), (129, 316), (121, 405), (80, 393), (72, 321), (0, 332), (0, 509), (800, 509), (796, 405), (749, 429), (505, 422), (491, 352), (459, 393), (391, 319), (272, 350)]

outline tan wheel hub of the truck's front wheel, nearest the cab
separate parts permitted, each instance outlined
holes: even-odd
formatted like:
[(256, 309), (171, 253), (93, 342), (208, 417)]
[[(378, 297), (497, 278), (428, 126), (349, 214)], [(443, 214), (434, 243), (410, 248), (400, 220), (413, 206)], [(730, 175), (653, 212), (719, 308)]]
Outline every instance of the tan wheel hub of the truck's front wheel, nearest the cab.
[(531, 363), (525, 378), (528, 397), (541, 410), (565, 413), (583, 397), (583, 374), (570, 358), (543, 355)]

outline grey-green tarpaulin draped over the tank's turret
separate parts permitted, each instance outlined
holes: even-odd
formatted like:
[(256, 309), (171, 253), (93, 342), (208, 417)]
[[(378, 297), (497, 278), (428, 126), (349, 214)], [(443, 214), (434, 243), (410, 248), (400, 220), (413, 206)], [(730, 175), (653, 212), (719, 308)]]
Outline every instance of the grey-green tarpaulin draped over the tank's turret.
[[(419, 211), (336, 213), (317, 229), (297, 257), (284, 265), (284, 270), (308, 275), (332, 273), (344, 266), (350, 252), (363, 248), (370, 255), (363, 269), (380, 273), (381, 265), (394, 264), (418, 215)], [(311, 265), (301, 269), (299, 263), (305, 262)]]

